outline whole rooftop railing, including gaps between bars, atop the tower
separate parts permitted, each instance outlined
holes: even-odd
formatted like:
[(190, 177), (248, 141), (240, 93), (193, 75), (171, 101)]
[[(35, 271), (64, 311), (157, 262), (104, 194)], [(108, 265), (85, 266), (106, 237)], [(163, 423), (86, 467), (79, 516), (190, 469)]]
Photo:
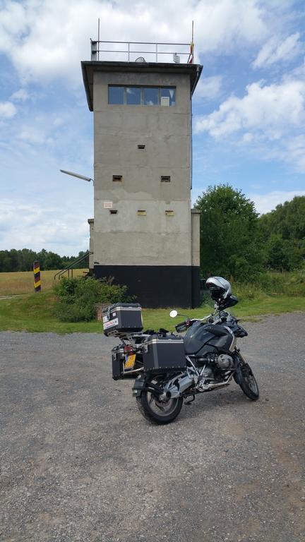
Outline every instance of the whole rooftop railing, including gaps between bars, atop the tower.
[[(90, 41), (92, 61), (174, 62), (179, 64), (181, 60), (184, 64), (192, 64), (194, 58), (193, 43)], [(142, 46), (145, 46), (144, 50)]]

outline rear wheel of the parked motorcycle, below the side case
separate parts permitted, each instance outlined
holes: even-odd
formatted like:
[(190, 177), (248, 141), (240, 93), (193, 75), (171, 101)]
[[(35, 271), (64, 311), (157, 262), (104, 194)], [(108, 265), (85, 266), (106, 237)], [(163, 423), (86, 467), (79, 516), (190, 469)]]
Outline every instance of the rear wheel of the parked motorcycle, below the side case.
[[(158, 379), (153, 381), (158, 383)], [(177, 418), (183, 404), (183, 397), (174, 399), (160, 399), (157, 395), (148, 391), (142, 392), (136, 397), (138, 409), (144, 418), (150, 423), (165, 424)]]

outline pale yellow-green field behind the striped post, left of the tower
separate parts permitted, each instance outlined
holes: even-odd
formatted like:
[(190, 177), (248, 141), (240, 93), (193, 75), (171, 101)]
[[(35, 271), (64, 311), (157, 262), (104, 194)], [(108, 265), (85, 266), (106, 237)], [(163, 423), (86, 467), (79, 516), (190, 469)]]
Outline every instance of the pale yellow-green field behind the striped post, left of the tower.
[[(52, 289), (54, 284), (54, 275), (56, 272), (56, 270), (41, 272), (43, 291)], [(83, 275), (83, 272), (88, 272), (88, 269), (73, 269), (73, 277)], [(0, 273), (0, 296), (32, 294), (33, 291), (34, 275), (32, 271)]]

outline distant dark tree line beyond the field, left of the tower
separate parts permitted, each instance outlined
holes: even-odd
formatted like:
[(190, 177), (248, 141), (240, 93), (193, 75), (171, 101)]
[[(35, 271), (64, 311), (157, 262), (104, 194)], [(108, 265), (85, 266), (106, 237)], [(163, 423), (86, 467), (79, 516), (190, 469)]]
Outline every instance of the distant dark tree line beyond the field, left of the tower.
[[(11, 248), (10, 251), (0, 251), (0, 272), (31, 271), (35, 260), (40, 262), (41, 270), (64, 269), (66, 265), (84, 254), (85, 252), (80, 251), (78, 256), (60, 256), (55, 252), (46, 251), (44, 248), (40, 252), (32, 251), (30, 248), (22, 248), (21, 250)], [(88, 267), (88, 258), (80, 263), (80, 267)]]

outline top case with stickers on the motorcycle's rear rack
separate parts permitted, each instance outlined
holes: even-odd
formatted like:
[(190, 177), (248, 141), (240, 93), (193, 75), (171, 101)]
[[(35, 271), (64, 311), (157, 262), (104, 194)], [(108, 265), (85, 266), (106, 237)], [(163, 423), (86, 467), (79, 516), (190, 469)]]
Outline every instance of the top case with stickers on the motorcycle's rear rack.
[(143, 330), (139, 303), (115, 303), (103, 311), (104, 335), (129, 335)]

